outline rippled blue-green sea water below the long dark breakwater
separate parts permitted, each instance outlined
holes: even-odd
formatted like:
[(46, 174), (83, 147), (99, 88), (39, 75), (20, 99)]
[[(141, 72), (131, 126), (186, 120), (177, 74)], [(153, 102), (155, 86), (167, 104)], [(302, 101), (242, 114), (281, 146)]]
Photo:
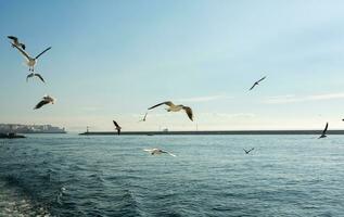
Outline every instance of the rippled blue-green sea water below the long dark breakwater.
[(344, 137), (0, 140), (0, 216), (344, 216)]

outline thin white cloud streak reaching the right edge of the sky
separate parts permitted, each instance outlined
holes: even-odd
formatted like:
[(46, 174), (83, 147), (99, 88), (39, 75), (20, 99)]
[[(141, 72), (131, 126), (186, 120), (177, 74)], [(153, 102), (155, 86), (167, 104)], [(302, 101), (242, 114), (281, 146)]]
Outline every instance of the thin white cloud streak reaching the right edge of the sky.
[(313, 95), (306, 95), (306, 97), (296, 97), (293, 94), (277, 95), (277, 97), (267, 98), (266, 100), (264, 100), (264, 103), (284, 104), (284, 103), (323, 101), (323, 100), (335, 100), (335, 99), (344, 99), (344, 92), (313, 94)]

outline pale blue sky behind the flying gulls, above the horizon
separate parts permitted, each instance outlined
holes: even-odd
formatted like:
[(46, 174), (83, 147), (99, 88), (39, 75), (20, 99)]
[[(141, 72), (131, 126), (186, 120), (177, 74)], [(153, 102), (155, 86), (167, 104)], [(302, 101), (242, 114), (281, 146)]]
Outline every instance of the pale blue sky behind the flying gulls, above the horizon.
[[(343, 1), (0, 1), (0, 123), (68, 130), (344, 127)], [(52, 49), (25, 81), (24, 59)], [(263, 76), (262, 86), (247, 89)], [(49, 93), (56, 104), (33, 107)], [(193, 107), (195, 122), (163, 107)]]

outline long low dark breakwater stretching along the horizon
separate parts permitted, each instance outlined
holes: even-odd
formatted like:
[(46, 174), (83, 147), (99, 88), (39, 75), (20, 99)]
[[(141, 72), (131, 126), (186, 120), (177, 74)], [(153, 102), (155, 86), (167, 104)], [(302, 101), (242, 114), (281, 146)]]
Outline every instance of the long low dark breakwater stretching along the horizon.
[[(126, 136), (168, 136), (168, 135), (321, 135), (322, 130), (214, 130), (214, 131), (123, 131)], [(344, 135), (344, 130), (329, 130), (328, 135)], [(114, 131), (89, 131), (80, 136), (116, 136)]]

